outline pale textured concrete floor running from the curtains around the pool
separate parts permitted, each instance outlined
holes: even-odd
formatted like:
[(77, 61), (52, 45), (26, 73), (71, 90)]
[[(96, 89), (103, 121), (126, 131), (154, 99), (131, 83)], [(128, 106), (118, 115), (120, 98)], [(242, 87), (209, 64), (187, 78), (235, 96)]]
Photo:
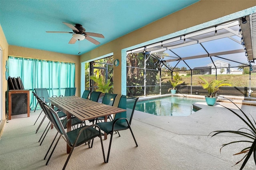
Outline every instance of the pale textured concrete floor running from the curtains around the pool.
[[(234, 108), (230, 103), (222, 105)], [(196, 103), (202, 108), (188, 117), (165, 117), (150, 115), (135, 111), (132, 130), (138, 142), (136, 147), (129, 130), (121, 131), (121, 137), (114, 135), (107, 164), (103, 162), (100, 140), (94, 140), (93, 148), (79, 146), (68, 162), (66, 169), (159, 169), (159, 170), (238, 170), (242, 163), (233, 166), (242, 155), (233, 156), (244, 148), (244, 144), (232, 144), (222, 149), (226, 142), (241, 140), (234, 135), (219, 135), (208, 137), (214, 130), (238, 130), (246, 127), (236, 115), (221, 107), (207, 106)], [(256, 117), (255, 106), (238, 105), (248, 115)], [(237, 112), (239, 112), (237, 110)], [(42, 146), (38, 140), (46, 127), (35, 134), (39, 124), (33, 126), (40, 111), (26, 115), (12, 116), (6, 123), (0, 139), (0, 169), (62, 169), (66, 158), (66, 144), (60, 140), (47, 166), (43, 160), (56, 130), (48, 132)], [(42, 116), (41, 116), (42, 119)], [(107, 154), (110, 136), (103, 140), (105, 154)], [(82, 163), (81, 163), (82, 162)], [(233, 166), (233, 167), (232, 167)], [(250, 158), (244, 169), (255, 169), (255, 163)]]

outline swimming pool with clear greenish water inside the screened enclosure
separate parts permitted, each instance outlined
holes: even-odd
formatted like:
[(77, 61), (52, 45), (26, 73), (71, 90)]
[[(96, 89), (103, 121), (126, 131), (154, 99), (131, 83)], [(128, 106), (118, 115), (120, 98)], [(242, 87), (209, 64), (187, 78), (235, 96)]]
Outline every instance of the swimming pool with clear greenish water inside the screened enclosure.
[(138, 101), (135, 110), (158, 116), (188, 116), (195, 113), (193, 103), (205, 102), (205, 99), (189, 97), (160, 97)]

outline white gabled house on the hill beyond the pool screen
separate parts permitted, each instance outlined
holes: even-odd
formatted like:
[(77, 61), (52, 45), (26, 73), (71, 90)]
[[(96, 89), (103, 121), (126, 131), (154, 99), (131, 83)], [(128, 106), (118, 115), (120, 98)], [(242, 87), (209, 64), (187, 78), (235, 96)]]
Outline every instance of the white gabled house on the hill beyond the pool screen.
[(207, 66), (212, 67), (212, 74), (213, 75), (215, 75), (215, 74), (229, 74), (230, 73), (230, 64), (227, 63), (227, 62), (224, 62), (224, 61), (216, 60), (216, 61), (214, 61), (214, 64), (210, 63)]

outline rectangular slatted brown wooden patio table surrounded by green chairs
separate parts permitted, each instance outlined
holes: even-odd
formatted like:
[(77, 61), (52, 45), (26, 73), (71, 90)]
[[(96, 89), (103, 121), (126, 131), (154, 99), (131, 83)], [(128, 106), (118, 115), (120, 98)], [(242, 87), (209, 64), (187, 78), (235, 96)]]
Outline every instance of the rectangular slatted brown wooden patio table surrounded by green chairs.
[[(126, 111), (125, 109), (104, 105), (102, 103), (90, 101), (76, 96), (49, 97), (48, 99), (50, 99), (52, 107), (55, 106), (60, 109), (60, 111), (66, 113), (67, 119), (71, 119), (71, 115), (77, 117), (81, 121), (104, 116), (106, 122), (108, 115)], [(67, 124), (67, 132), (70, 130), (71, 121), (69, 121)], [(107, 139), (106, 133), (104, 134), (104, 139)], [(70, 147), (67, 144), (67, 153), (69, 152)]]

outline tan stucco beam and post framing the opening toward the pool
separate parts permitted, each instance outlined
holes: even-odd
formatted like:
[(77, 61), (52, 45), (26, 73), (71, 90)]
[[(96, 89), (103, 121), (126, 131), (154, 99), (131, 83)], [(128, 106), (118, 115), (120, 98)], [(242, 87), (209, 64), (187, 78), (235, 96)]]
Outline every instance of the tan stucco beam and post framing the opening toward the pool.
[[(114, 59), (122, 62), (121, 50), (156, 38), (185, 30), (256, 6), (253, 0), (201, 0), (187, 8), (152, 22), (134, 32), (126, 34), (112, 42), (81, 55), (80, 62), (88, 61), (108, 53), (114, 53)], [(169, 37), (172, 38), (172, 37)], [(125, 60), (123, 60), (125, 61)], [(120, 63), (122, 65), (122, 63)], [(114, 93), (121, 94), (121, 66), (114, 67)]]

